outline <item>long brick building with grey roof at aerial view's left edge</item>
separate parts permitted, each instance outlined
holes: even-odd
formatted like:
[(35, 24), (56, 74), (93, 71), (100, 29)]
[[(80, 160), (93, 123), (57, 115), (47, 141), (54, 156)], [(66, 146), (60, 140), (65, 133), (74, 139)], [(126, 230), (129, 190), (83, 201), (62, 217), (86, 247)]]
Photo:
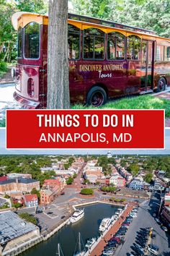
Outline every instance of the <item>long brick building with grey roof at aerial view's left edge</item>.
[(6, 179), (0, 181), (0, 193), (10, 195), (11, 192), (31, 192), (32, 189), (40, 190), (40, 182), (30, 178)]

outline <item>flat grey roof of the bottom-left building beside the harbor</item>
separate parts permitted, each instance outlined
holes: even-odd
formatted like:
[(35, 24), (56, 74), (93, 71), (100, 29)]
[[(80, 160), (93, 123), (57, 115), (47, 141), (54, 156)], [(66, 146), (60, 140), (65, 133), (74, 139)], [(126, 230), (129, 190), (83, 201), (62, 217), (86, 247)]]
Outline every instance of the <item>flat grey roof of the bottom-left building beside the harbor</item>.
[(0, 244), (6, 244), (12, 239), (37, 229), (37, 226), (27, 223), (11, 210), (0, 213), (0, 226)]

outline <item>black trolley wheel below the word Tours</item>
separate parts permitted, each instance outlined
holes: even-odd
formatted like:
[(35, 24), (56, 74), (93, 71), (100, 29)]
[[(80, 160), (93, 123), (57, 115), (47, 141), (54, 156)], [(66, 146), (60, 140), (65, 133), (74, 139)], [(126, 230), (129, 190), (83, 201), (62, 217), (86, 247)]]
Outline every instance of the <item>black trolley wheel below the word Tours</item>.
[(99, 86), (94, 86), (89, 90), (86, 103), (94, 107), (102, 106), (107, 102), (107, 93)]

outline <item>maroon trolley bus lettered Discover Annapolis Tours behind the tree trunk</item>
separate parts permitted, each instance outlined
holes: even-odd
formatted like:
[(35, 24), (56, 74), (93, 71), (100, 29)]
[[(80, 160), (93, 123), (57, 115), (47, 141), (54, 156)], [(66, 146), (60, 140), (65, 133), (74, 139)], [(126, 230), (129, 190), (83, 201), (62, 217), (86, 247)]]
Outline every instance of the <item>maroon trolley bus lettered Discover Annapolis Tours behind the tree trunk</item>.
[[(14, 99), (46, 108), (48, 17), (19, 12)], [(68, 14), (71, 103), (101, 106), (107, 98), (160, 92), (170, 85), (170, 39), (151, 30)]]

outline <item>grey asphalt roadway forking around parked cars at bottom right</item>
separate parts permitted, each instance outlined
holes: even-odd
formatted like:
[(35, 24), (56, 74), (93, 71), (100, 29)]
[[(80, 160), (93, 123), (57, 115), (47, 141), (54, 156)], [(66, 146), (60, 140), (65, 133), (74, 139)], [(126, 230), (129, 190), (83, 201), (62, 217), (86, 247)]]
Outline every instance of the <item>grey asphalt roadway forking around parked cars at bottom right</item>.
[[(155, 212), (154, 200), (158, 201), (158, 198), (153, 196), (151, 201), (146, 200), (140, 204), (138, 218), (133, 219), (133, 223), (130, 225), (129, 230), (125, 235), (124, 244), (118, 247), (115, 252), (116, 256), (129, 256), (130, 252), (132, 252), (131, 246), (135, 242), (136, 232), (139, 231), (140, 228), (147, 227), (152, 227), (156, 234), (156, 238), (151, 242), (159, 247), (159, 255), (170, 255), (170, 236), (161, 229), (161, 226), (159, 226), (153, 218), (153, 213)], [(148, 255), (150, 255), (150, 253), (148, 253)]]

